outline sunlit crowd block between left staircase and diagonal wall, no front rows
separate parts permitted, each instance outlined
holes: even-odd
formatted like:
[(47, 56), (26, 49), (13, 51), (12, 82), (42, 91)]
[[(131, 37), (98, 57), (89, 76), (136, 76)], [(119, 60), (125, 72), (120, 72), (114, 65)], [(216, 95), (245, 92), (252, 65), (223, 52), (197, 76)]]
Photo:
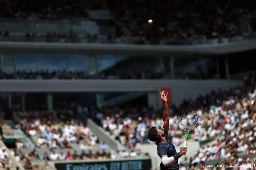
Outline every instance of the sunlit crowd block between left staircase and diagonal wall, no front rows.
[[(29, 114), (30, 116), (28, 116)], [(71, 143), (77, 143), (81, 148), (86, 148), (86, 146), (90, 148), (91, 145), (100, 143), (88, 127), (73, 118), (72, 110), (60, 110), (52, 113), (48, 111), (15, 112), (13, 115), (15, 115), (16, 121), (20, 122), (17, 128), (35, 140), (40, 148), (70, 149), (72, 148)], [(39, 115), (42, 116), (42, 119), (37, 118)]]

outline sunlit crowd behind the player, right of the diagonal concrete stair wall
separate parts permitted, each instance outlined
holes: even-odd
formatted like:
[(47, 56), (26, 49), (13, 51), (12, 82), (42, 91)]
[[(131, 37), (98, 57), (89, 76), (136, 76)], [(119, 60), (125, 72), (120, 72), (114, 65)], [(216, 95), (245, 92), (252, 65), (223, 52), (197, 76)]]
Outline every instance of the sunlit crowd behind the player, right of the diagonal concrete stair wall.
[[(224, 136), (213, 145), (202, 146), (193, 158), (183, 163), (189, 163), (190, 168), (199, 166), (200, 162), (231, 158), (228, 164), (253, 163), (253, 159), (242, 159), (239, 155), (255, 154), (256, 150), (256, 89), (255, 78), (253, 87), (232, 88), (227, 92), (212, 92), (199, 96), (195, 101), (184, 100), (179, 112), (170, 108), (169, 136), (175, 145), (183, 142), (180, 127), (180, 116), (187, 109), (196, 110), (198, 125), (194, 130), (195, 140), (213, 139)], [(149, 128), (163, 127), (160, 108), (126, 107), (113, 110), (101, 110), (96, 114), (96, 122), (103, 129), (116, 136), (122, 144), (134, 148), (137, 142), (148, 143), (146, 134)], [(102, 118), (105, 117), (104, 120)], [(245, 157), (246, 158), (246, 157)]]

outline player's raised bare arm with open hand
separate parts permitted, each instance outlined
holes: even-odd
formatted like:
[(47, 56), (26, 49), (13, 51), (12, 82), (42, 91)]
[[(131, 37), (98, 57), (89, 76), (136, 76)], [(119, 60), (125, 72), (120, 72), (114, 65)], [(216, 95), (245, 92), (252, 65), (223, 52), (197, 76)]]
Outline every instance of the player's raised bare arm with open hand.
[(163, 102), (163, 120), (164, 120), (164, 130), (168, 133), (169, 131), (169, 110), (168, 110), (168, 104), (167, 104), (167, 95), (165, 95), (164, 91), (161, 91), (161, 99)]

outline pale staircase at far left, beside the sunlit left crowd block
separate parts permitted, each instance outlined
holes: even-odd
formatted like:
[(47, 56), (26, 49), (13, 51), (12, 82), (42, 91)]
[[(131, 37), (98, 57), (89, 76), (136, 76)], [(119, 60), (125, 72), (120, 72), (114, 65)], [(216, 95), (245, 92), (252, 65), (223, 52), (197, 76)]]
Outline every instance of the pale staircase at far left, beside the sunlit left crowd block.
[(13, 129), (15, 138), (18, 138), (26, 146), (26, 148), (35, 147), (35, 144), (24, 134), (24, 132), (15, 128), (15, 123), (13, 120), (5, 120), (5, 123), (10, 125), (10, 127)]

